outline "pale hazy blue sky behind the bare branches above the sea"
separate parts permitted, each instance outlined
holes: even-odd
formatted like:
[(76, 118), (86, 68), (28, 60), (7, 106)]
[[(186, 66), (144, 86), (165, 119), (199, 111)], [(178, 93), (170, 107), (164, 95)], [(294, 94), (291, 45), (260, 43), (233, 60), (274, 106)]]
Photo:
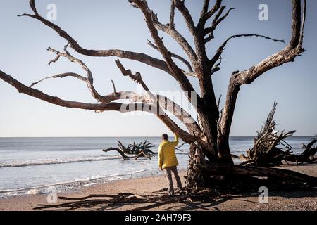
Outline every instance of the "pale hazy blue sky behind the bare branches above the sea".
[[(199, 18), (202, 0), (185, 1), (195, 22)], [(211, 1), (213, 3), (213, 1)], [(151, 39), (142, 13), (132, 8), (128, 0), (41, 0), (36, 1), (39, 13), (46, 15), (48, 4), (57, 6), (57, 23), (87, 49), (125, 49), (161, 57), (147, 45)], [(230, 35), (242, 33), (265, 34), (289, 41), (292, 24), (290, 0), (240, 0), (224, 1), (235, 7), (215, 32), (216, 39), (209, 44), (209, 56)], [(258, 19), (259, 4), (268, 4), (269, 20)], [(151, 0), (162, 23), (168, 23), (170, 0)], [(317, 1), (308, 0), (308, 15), (303, 56), (266, 72), (253, 84), (242, 86), (237, 99), (232, 136), (254, 136), (266, 120), (273, 101), (278, 101), (276, 119), (278, 129), (296, 129), (297, 136), (317, 134), (317, 15), (313, 9)], [(0, 70), (23, 84), (61, 72), (78, 72), (85, 75), (79, 65), (65, 58), (47, 65), (54, 54), (47, 46), (62, 50), (66, 41), (49, 27), (32, 18), (18, 18), (20, 13), (30, 13), (28, 0), (1, 1), (0, 3)], [(176, 13), (176, 27), (192, 43), (186, 25)], [(180, 47), (167, 34), (166, 46), (182, 56)], [(266, 39), (242, 38), (228, 44), (223, 53), (221, 70), (213, 75), (216, 95), (225, 96), (228, 80), (234, 70), (245, 70), (254, 63), (279, 51), (285, 46)], [(135, 83), (120, 74), (116, 58), (75, 56), (84, 60), (94, 72), (95, 86), (101, 94), (112, 91), (111, 79), (120, 90), (136, 91)], [(154, 91), (174, 91), (180, 87), (170, 75), (141, 63), (121, 60), (126, 68), (142, 73), (147, 85)], [(198, 90), (196, 79), (190, 79)], [(60, 98), (94, 102), (85, 84), (76, 79), (51, 79), (39, 84), (37, 89)], [(224, 100), (223, 100), (224, 101)], [(223, 102), (222, 102), (223, 105)], [(159, 136), (167, 127), (154, 115), (122, 115), (118, 112), (94, 113), (87, 110), (61, 108), (37, 98), (18, 94), (12, 86), (0, 80), (0, 136)], [(169, 132), (168, 132), (169, 133)]]

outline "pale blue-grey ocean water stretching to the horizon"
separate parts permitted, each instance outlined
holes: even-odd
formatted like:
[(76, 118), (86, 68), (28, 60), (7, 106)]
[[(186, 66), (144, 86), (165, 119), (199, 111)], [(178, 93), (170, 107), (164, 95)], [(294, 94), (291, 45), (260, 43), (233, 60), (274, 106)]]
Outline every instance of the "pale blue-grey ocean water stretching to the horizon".
[[(123, 160), (117, 152), (118, 141), (144, 141), (144, 137), (78, 138), (0, 138), (0, 198), (11, 195), (73, 191), (99, 182), (162, 174), (157, 157), (152, 160)], [(294, 153), (311, 137), (291, 137), (287, 143)], [(148, 139), (157, 151), (159, 137)], [(240, 155), (253, 144), (253, 137), (231, 137), (232, 154)], [(181, 150), (181, 151), (180, 151)], [(187, 167), (189, 146), (176, 151), (179, 168)]]

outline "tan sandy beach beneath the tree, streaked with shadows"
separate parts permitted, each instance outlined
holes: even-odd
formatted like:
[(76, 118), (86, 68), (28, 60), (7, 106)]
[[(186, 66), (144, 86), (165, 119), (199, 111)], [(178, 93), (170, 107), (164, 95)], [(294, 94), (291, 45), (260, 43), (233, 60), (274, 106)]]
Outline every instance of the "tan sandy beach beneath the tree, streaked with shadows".
[[(297, 172), (317, 176), (317, 165), (301, 166), (283, 166), (281, 168), (292, 169)], [(180, 171), (182, 183), (184, 183), (185, 170)], [(65, 197), (84, 197), (89, 194), (116, 194), (116, 193), (135, 193), (137, 195), (150, 195), (153, 192), (166, 187), (166, 179), (163, 176), (152, 176), (139, 179), (125, 179), (111, 181), (106, 184), (97, 184), (96, 186), (82, 188), (75, 193), (58, 193), (58, 196)], [(151, 210), (317, 210), (317, 190), (299, 191), (299, 192), (272, 192), (269, 193), (268, 203), (259, 203), (259, 193), (242, 193), (241, 195), (220, 196), (206, 200), (204, 203), (173, 203), (160, 207), (154, 207)], [(0, 199), (0, 210), (33, 210), (37, 204), (47, 204), (47, 195), (23, 195), (13, 196), (11, 198)], [(63, 202), (58, 200), (58, 203)], [(143, 204), (144, 205), (144, 204)], [(106, 210), (132, 210), (134, 205), (114, 205)], [(105, 210), (103, 205), (97, 207), (84, 207), (80, 210)]]

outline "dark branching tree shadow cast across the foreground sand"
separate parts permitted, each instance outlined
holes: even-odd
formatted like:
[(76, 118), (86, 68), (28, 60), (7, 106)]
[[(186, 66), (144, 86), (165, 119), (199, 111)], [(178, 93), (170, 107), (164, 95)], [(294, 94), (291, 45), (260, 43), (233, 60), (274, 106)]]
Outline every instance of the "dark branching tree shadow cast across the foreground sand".
[[(303, 191), (269, 191), (268, 197), (282, 197), (282, 198), (305, 198), (317, 197), (317, 189), (303, 190)], [(63, 202), (59, 205), (39, 205), (38, 209), (42, 210), (127, 210), (127, 211), (143, 211), (143, 210), (157, 210), (158, 207), (163, 207), (163, 210), (216, 210), (220, 211), (220, 206), (229, 200), (242, 201), (246, 203), (260, 204), (257, 198), (261, 193), (259, 192), (244, 192), (244, 193), (223, 193), (216, 195), (215, 193), (201, 193), (197, 195), (191, 194), (177, 194), (173, 196), (161, 195), (106, 195), (105, 198), (92, 197), (68, 198), (69, 201)], [(113, 198), (109, 198), (113, 197)], [(100, 196), (102, 197), (102, 196)], [(255, 197), (256, 200), (249, 200), (247, 198)], [(64, 198), (67, 199), (67, 198)], [(126, 207), (126, 208), (124, 208)], [(160, 209), (162, 210), (162, 208)]]

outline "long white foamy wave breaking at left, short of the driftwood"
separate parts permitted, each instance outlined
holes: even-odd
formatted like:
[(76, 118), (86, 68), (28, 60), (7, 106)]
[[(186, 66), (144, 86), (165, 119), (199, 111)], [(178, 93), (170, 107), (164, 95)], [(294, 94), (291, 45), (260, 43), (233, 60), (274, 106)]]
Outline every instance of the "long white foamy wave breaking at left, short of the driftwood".
[(91, 156), (91, 157), (82, 157), (82, 158), (50, 158), (50, 159), (39, 159), (39, 160), (19, 160), (19, 161), (11, 161), (11, 162), (0, 162), (0, 168), (29, 167), (29, 166), (63, 164), (63, 163), (73, 163), (73, 162), (116, 160), (119, 158), (122, 158), (122, 157), (120, 155), (113, 155), (113, 156)]

